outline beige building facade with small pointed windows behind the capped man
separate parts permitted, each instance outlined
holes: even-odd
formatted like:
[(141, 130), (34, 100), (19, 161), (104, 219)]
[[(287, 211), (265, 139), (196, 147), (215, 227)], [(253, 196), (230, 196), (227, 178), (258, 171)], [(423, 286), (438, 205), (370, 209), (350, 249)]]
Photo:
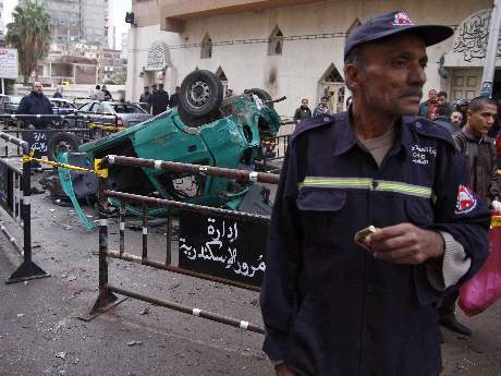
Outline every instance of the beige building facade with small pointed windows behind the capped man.
[[(392, 10), (418, 24), (454, 27), (450, 39), (428, 49), (429, 88), (452, 100), (478, 93), (489, 33), (491, 0), (253, 1), (133, 0), (135, 26), (127, 41), (127, 99), (143, 86), (163, 83), (169, 92), (195, 69), (215, 72), (235, 94), (261, 87), (282, 116), (292, 116), (301, 98), (314, 106), (330, 98), (331, 110), (345, 109), (343, 49), (361, 21)], [(498, 64), (501, 69), (501, 60)], [(501, 71), (494, 93), (501, 95)]]

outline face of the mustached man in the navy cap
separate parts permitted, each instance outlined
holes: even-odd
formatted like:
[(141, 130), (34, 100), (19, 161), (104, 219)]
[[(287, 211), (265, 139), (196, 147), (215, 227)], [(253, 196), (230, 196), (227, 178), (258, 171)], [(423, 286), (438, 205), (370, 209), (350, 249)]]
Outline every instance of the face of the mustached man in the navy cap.
[(407, 34), (362, 49), (359, 88), (366, 105), (393, 116), (417, 114), (428, 61), (423, 38)]

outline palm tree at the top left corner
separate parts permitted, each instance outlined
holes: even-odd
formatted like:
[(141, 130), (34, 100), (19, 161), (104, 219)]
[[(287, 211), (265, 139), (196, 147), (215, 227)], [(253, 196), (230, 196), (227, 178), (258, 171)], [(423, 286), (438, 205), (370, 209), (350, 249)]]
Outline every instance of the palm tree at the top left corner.
[(13, 22), (7, 25), (5, 40), (17, 49), (21, 73), (27, 84), (38, 60), (49, 53), (52, 41), (51, 19), (37, 0), (15, 7), (12, 17)]

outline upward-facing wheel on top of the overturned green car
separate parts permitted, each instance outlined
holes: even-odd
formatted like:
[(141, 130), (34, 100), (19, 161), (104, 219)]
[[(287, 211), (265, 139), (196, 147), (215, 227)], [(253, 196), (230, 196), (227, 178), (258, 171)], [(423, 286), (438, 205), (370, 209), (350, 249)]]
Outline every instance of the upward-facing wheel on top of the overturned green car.
[(196, 70), (181, 83), (179, 107), (191, 117), (207, 117), (219, 112), (222, 98), (221, 81), (212, 72)]

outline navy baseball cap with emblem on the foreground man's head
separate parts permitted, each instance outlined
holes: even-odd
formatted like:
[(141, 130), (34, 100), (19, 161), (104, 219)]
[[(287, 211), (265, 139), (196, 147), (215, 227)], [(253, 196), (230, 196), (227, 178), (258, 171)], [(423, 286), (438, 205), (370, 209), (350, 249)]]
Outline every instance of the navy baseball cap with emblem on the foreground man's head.
[(356, 27), (347, 37), (344, 46), (344, 60), (356, 46), (380, 40), (403, 33), (414, 33), (425, 40), (426, 47), (445, 40), (454, 31), (442, 25), (416, 25), (403, 11), (393, 11), (369, 19)]

